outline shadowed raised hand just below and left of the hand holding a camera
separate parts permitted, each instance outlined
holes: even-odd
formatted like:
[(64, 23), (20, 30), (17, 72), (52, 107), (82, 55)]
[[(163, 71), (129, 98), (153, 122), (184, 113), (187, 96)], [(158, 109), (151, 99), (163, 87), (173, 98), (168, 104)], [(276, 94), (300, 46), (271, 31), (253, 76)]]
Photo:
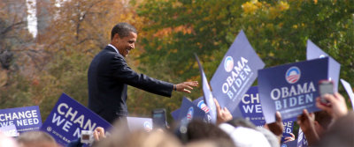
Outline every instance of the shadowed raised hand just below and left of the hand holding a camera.
[(315, 114), (309, 114), (306, 109), (303, 110), (303, 114), (297, 117), (297, 124), (300, 126), (301, 130), (303, 130), (309, 145), (319, 141), (319, 135), (316, 132), (314, 121)]

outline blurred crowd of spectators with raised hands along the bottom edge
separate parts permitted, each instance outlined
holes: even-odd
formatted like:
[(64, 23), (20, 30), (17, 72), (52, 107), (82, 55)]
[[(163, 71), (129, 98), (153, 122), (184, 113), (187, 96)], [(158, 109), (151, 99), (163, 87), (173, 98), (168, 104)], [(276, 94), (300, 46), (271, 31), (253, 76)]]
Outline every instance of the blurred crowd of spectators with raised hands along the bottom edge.
[[(316, 105), (322, 111), (303, 114), (297, 117), (297, 124), (304, 132), (309, 146), (354, 146), (354, 113), (348, 111), (341, 94), (326, 94), (324, 105), (319, 98)], [(276, 113), (276, 121), (264, 127), (256, 127), (250, 121), (233, 118), (227, 109), (219, 107), (216, 101), (217, 124), (202, 120), (175, 122), (168, 129), (130, 131), (127, 121), (116, 121), (110, 134), (100, 127), (93, 133), (93, 147), (279, 147), (283, 123), (281, 114)], [(67, 146), (83, 146), (80, 139)], [(41, 131), (29, 131), (17, 138), (0, 133), (0, 147), (51, 147), (60, 146), (52, 136)]]

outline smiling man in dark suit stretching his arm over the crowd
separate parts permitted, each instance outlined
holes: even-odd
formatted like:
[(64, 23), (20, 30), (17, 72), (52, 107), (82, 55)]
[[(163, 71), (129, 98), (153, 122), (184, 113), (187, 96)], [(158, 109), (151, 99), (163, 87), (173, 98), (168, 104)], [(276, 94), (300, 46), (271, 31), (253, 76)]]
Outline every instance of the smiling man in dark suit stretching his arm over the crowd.
[(112, 28), (111, 44), (89, 65), (89, 109), (111, 123), (127, 116), (127, 85), (165, 97), (171, 97), (173, 90), (190, 92), (198, 85), (196, 81), (173, 85), (130, 69), (125, 57), (135, 48), (136, 37), (134, 26), (119, 23)]

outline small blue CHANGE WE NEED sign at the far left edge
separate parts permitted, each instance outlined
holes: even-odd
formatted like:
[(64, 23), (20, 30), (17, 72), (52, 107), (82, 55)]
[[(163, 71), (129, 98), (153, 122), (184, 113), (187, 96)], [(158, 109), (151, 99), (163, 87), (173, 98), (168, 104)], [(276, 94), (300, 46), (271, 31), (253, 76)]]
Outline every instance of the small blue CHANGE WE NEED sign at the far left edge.
[(16, 107), (0, 110), (0, 127), (14, 124), (19, 133), (38, 130), (42, 126), (38, 106)]

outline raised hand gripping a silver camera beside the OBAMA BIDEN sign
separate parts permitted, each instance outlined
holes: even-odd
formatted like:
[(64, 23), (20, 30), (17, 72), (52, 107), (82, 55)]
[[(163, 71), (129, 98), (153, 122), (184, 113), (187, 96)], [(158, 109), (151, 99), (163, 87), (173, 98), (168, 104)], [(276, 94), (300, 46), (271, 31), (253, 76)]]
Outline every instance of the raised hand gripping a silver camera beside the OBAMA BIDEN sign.
[(325, 94), (323, 96), (324, 99), (327, 99), (330, 105), (324, 105), (320, 102), (320, 98), (316, 99), (316, 106), (319, 109), (325, 110), (328, 114), (330, 114), (334, 120), (348, 114), (348, 108), (345, 104), (345, 99), (338, 92), (335, 94)]

